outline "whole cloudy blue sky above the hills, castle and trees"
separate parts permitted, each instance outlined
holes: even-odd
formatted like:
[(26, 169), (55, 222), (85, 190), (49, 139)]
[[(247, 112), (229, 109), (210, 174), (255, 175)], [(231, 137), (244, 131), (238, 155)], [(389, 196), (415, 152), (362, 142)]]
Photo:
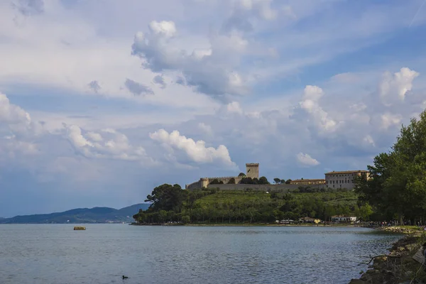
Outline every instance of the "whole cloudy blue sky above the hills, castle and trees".
[(426, 108), (425, 2), (0, 1), (0, 217), (365, 170)]

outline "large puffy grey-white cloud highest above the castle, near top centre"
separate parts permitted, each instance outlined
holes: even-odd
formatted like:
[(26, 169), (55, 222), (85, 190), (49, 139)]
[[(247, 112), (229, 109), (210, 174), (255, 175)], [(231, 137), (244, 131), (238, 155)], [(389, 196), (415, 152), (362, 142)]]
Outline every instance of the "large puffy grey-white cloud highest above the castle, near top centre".
[(248, 45), (241, 36), (212, 35), (209, 48), (188, 53), (173, 44), (178, 33), (173, 21), (152, 21), (148, 28), (148, 33), (136, 33), (132, 45), (132, 55), (140, 57), (144, 67), (153, 72), (181, 72), (187, 85), (214, 97), (246, 94), (247, 84), (236, 70)]

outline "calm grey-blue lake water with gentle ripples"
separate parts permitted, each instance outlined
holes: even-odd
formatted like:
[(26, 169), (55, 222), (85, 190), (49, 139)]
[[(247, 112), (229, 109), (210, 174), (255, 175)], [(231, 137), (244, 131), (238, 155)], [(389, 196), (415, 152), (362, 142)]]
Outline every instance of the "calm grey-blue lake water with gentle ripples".
[(400, 238), (321, 226), (73, 226), (0, 225), (0, 283), (344, 284)]

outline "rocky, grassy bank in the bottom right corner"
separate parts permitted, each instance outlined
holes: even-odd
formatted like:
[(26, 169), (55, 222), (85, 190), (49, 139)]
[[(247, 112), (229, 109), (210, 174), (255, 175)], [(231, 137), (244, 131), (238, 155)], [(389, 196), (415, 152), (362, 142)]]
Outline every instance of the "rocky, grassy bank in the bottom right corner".
[[(424, 242), (424, 235), (410, 229), (387, 227), (383, 231), (408, 234), (395, 242), (386, 256), (375, 256), (367, 263), (368, 270), (349, 284), (420, 284), (426, 283), (425, 267), (413, 258)], [(410, 233), (409, 233), (410, 231)]]

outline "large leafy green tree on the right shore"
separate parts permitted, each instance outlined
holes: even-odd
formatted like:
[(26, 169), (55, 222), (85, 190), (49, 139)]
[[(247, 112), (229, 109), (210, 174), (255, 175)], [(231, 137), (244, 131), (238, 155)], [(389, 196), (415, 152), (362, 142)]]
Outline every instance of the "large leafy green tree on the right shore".
[(371, 204), (377, 219), (425, 221), (426, 111), (403, 126), (389, 153), (369, 165), (371, 178), (356, 179), (360, 204)]

